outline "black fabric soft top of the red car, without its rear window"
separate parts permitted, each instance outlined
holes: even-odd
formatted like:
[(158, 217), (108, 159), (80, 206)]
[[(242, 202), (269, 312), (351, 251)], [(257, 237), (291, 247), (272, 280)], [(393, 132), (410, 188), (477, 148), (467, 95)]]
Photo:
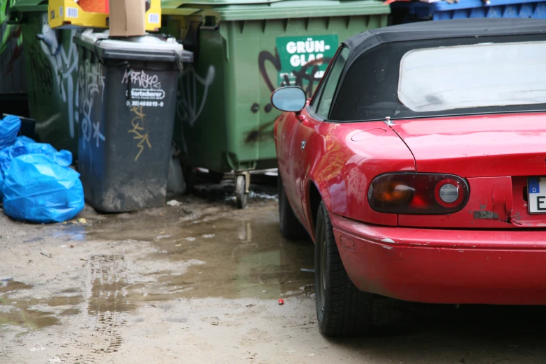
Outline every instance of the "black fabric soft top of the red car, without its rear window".
[[(545, 42), (546, 20), (464, 19), (419, 22), (365, 31), (344, 42), (351, 52), (332, 108), (333, 121), (371, 121), (499, 112), (546, 111), (540, 104), (416, 112), (398, 98), (400, 62), (411, 50), (480, 43)], [(470, 72), (471, 70), (468, 70)], [(499, 75), (502, 77), (502, 75)]]

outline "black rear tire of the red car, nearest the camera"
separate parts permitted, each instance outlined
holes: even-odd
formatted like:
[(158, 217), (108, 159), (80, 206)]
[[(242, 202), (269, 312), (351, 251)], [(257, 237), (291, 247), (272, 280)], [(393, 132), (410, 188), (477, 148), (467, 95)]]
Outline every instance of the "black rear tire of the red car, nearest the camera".
[(324, 202), (317, 213), (315, 234), (314, 287), (320, 332), (331, 338), (363, 335), (372, 326), (374, 295), (359, 291), (347, 275)]

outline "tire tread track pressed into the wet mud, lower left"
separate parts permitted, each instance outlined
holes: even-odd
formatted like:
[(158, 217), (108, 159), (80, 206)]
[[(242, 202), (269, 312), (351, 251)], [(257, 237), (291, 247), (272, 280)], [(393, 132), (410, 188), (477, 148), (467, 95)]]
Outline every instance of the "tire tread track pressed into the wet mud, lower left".
[(123, 344), (118, 329), (126, 324), (122, 310), (127, 282), (125, 256), (93, 255), (89, 268), (84, 310), (89, 321), (84, 325), (83, 337), (76, 340), (74, 352), (61, 356), (63, 363), (114, 363), (109, 354)]

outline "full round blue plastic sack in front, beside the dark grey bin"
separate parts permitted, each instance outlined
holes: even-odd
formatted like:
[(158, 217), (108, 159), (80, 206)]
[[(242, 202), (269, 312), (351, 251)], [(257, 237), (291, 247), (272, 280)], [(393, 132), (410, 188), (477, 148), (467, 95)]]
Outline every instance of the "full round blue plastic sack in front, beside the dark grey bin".
[(82, 211), (82, 182), (79, 173), (66, 166), (64, 152), (25, 154), (11, 161), (3, 187), (6, 215), (45, 223), (70, 220)]

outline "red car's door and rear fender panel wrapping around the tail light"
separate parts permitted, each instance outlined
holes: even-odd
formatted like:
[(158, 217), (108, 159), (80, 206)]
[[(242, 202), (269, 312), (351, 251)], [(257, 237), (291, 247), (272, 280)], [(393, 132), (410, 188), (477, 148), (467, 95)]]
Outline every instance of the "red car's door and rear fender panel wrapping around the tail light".
[(382, 121), (324, 123), (305, 109), (304, 121), (298, 121), (294, 113), (285, 115), (276, 126), (279, 173), (294, 212), (310, 232), (314, 231), (308, 196), (311, 183), (328, 211), (373, 224), (397, 225), (397, 215), (373, 211), (366, 202), (375, 176), (415, 170), (414, 157), (394, 130)]

